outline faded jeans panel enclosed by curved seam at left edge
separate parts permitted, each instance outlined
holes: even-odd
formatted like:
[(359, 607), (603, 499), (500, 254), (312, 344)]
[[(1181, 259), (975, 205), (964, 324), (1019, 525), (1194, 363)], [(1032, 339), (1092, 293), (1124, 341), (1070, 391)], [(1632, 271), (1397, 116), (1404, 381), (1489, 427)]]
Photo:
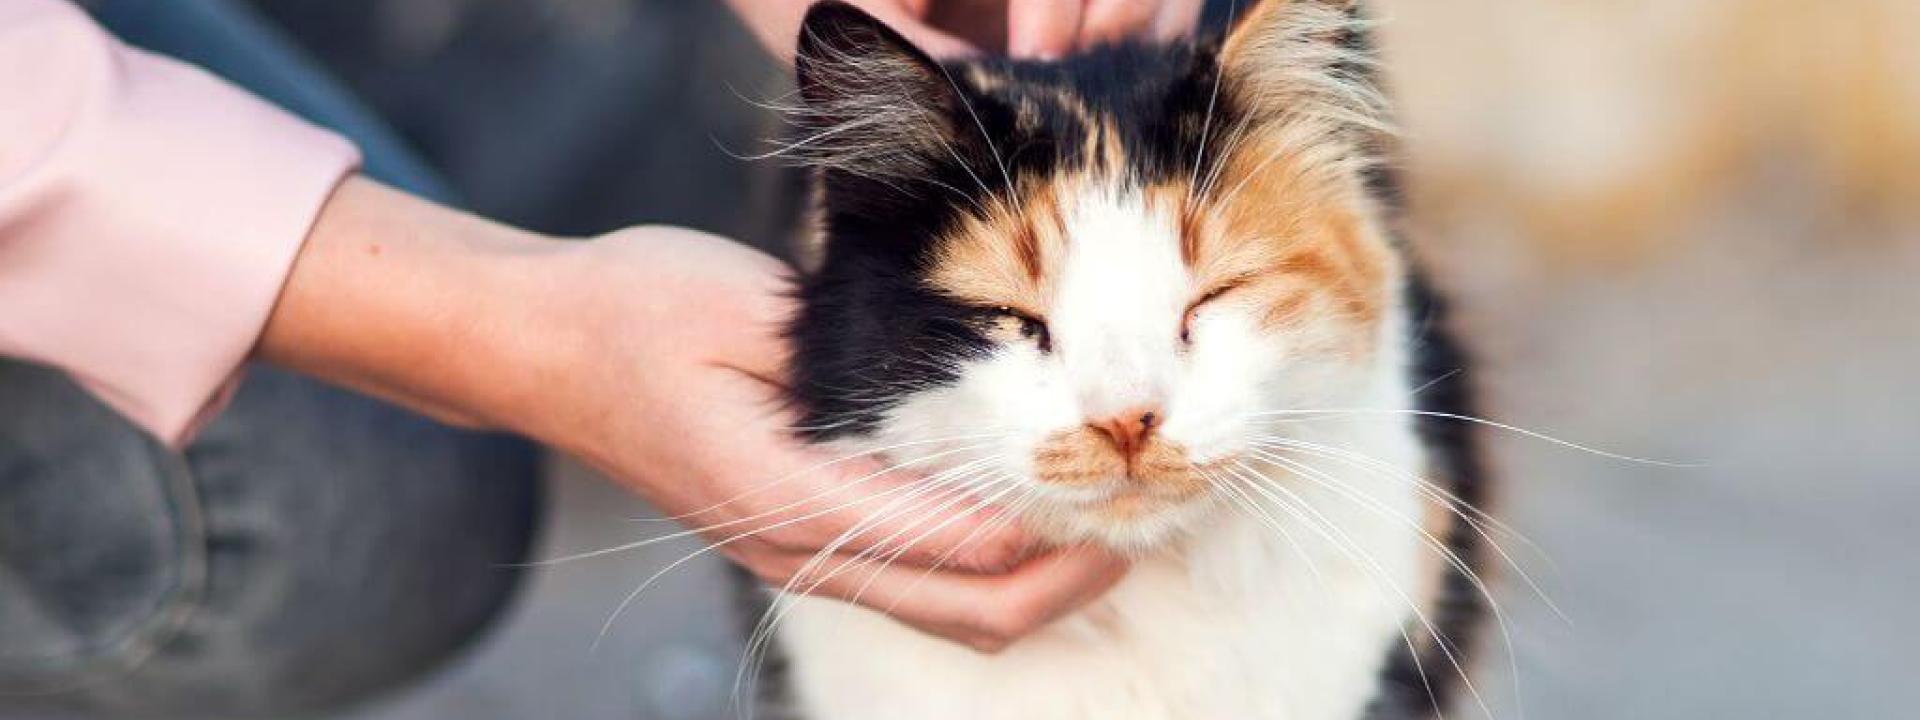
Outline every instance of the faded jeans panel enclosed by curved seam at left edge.
[(60, 372), (0, 361), (0, 705), (125, 670), (200, 589), (184, 465)]

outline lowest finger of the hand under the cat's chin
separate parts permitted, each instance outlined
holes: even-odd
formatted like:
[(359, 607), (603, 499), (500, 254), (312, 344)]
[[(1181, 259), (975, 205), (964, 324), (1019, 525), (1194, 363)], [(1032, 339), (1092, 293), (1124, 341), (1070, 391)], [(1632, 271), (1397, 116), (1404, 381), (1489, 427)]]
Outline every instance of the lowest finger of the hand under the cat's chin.
[(1000, 651), (1098, 599), (1127, 574), (1100, 549), (1056, 551), (1002, 578), (856, 564), (814, 586), (812, 595), (851, 601), (922, 632), (979, 651)]

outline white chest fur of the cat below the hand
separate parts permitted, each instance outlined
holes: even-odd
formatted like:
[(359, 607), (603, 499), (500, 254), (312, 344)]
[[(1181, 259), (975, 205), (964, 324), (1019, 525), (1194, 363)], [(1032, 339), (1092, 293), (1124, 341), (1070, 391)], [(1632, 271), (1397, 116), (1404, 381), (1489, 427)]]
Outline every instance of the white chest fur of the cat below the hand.
[(1334, 720), (1375, 695), (1402, 611), (1332, 543), (1223, 516), (1000, 655), (804, 601), (783, 639), (810, 718)]

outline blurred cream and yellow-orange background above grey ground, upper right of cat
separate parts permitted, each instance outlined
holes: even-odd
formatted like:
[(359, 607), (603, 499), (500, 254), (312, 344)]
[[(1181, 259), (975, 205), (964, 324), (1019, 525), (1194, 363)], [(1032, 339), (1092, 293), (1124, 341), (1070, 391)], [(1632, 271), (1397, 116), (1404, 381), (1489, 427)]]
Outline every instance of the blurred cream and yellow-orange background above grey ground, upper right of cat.
[(1726, 213), (1920, 238), (1920, 2), (1380, 8), (1428, 227), (1546, 269), (1647, 261)]

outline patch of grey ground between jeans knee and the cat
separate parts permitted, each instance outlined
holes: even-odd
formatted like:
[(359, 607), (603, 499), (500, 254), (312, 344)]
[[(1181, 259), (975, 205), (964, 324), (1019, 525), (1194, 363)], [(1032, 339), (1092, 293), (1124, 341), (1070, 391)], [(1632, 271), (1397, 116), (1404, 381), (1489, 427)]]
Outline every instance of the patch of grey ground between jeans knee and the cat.
[[(536, 557), (612, 547), (670, 532), (655, 513), (576, 463), (553, 463)], [(712, 555), (666, 572), (611, 624), (649, 576), (703, 545), (668, 541), (543, 566), (503, 626), (444, 676), (353, 720), (732, 718), (739, 641), (726, 568)], [(601, 628), (607, 628), (601, 637)], [(597, 643), (595, 643), (597, 641)]]

